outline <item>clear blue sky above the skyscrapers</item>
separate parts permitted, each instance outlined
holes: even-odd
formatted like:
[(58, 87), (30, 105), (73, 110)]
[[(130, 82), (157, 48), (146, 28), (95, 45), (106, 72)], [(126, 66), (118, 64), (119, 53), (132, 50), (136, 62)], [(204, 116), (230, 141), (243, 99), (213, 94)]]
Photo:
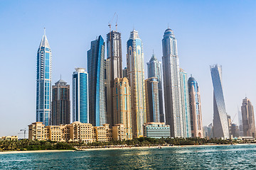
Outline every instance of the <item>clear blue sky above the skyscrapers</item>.
[[(0, 0), (0, 136), (17, 135), (36, 121), (36, 52), (43, 28), (53, 52), (54, 84), (87, 69), (87, 50), (118, 14), (123, 67), (133, 28), (144, 43), (144, 62), (161, 60), (164, 30), (174, 30), (180, 67), (201, 90), (203, 125), (213, 119), (210, 64), (223, 66), (228, 114), (238, 123), (242, 98), (256, 106), (256, 1), (3, 1)], [(112, 23), (113, 27), (115, 19)], [(19, 135), (22, 137), (22, 135)]]

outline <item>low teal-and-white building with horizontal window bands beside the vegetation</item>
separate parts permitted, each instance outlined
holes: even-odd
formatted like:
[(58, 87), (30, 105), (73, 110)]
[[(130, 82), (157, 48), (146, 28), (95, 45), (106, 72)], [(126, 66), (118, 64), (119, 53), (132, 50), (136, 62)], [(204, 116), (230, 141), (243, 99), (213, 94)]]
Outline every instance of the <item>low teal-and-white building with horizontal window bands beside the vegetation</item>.
[(171, 137), (170, 125), (165, 123), (144, 123), (144, 137)]

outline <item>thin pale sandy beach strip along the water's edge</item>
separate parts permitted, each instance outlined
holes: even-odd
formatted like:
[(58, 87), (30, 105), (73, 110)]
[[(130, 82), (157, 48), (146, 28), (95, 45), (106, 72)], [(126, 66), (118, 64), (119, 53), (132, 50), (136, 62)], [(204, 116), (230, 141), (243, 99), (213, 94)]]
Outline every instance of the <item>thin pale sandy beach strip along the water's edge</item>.
[[(235, 145), (256, 145), (256, 143), (235, 144)], [(230, 145), (175, 145), (175, 146), (161, 146), (161, 148), (216, 147), (216, 146), (230, 146)], [(0, 152), (0, 154), (28, 154), (28, 153), (45, 153), (45, 152), (83, 152), (83, 151), (93, 151), (93, 150), (117, 150), (117, 149), (158, 149), (158, 147), (159, 146), (150, 146), (150, 147), (100, 147), (100, 148), (87, 148), (87, 149), (78, 149), (78, 150), (4, 151), (4, 152)]]

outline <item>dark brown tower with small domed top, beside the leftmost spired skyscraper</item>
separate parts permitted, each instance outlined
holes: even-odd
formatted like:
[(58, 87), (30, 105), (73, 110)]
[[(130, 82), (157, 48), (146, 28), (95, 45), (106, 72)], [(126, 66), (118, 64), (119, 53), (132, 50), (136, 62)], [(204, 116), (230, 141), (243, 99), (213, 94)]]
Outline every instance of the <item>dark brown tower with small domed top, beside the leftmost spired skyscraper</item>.
[(51, 125), (70, 124), (70, 85), (60, 79), (53, 86)]

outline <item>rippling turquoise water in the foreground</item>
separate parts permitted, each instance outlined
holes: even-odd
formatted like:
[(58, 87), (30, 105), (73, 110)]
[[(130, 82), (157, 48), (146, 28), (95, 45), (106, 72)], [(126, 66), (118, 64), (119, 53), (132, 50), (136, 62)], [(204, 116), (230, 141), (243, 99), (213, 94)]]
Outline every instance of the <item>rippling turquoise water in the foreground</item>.
[(256, 169), (256, 145), (0, 154), (0, 169)]

